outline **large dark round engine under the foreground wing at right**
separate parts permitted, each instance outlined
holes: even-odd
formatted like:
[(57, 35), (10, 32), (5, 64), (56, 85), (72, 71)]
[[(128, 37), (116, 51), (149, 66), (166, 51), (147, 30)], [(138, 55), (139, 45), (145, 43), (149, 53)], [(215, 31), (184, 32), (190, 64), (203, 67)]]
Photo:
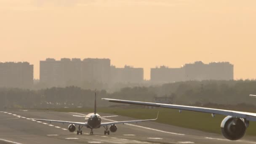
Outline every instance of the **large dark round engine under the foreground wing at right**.
[(221, 133), (229, 140), (238, 140), (245, 135), (248, 121), (243, 118), (227, 116), (221, 122)]

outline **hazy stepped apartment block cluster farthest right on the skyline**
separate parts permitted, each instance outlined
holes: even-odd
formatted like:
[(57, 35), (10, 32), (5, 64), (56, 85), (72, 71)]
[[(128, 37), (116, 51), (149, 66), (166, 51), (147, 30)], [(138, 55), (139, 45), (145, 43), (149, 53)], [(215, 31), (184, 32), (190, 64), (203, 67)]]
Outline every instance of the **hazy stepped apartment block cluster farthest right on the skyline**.
[(196, 61), (180, 68), (151, 68), (150, 80), (155, 83), (170, 83), (189, 80), (233, 80), (234, 65), (229, 62), (211, 62), (204, 64)]

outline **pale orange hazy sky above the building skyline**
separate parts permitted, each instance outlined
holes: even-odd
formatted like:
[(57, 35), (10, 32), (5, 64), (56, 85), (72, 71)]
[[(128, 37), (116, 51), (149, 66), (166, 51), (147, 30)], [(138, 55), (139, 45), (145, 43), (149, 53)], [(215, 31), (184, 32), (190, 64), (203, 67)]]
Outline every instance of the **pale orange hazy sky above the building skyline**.
[(0, 61), (109, 58), (117, 67), (229, 61), (256, 78), (256, 0), (0, 0)]

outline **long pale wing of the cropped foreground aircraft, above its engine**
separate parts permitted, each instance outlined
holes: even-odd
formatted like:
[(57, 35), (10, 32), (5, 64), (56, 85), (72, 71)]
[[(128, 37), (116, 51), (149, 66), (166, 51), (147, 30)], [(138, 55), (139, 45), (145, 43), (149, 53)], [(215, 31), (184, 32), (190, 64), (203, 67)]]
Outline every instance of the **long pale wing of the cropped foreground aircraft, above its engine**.
[(141, 101), (126, 101), (120, 99), (104, 99), (109, 102), (115, 103), (123, 103), (123, 104), (138, 104), (138, 105), (145, 105), (145, 106), (152, 106), (152, 107), (164, 107), (170, 109), (180, 109), (180, 110), (189, 110), (195, 112), (205, 112), (211, 114), (219, 114), (219, 115), (227, 115), (232, 117), (240, 117), (245, 118), (249, 121), (256, 121), (256, 113), (251, 112), (238, 112), (238, 111), (231, 111), (231, 110), (224, 110), (224, 109), (211, 109), (205, 107), (191, 107), (191, 106), (183, 106), (183, 105), (175, 105), (175, 104), (160, 104), (160, 103), (152, 103), (152, 102), (141, 102)]

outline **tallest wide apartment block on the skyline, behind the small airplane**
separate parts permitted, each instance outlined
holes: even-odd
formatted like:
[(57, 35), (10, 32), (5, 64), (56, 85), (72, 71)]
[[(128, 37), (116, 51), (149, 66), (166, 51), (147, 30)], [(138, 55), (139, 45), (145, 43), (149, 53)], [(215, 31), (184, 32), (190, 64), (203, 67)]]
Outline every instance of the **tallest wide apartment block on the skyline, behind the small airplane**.
[(110, 59), (67, 59), (40, 61), (40, 83), (67, 86), (83, 82), (108, 83)]

